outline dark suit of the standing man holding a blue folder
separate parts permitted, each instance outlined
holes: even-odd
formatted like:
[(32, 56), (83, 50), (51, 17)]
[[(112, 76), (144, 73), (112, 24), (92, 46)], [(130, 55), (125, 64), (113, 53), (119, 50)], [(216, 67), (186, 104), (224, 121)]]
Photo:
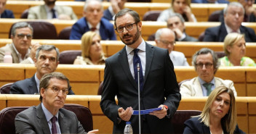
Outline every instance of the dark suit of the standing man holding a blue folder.
[[(176, 75), (167, 49), (160, 49), (145, 43), (146, 64), (143, 91), (140, 92), (141, 109), (152, 109), (160, 104), (169, 107), (172, 116), (180, 104), (180, 91)], [(103, 94), (100, 101), (103, 113), (113, 121), (113, 133), (124, 133), (125, 122), (118, 122), (119, 107), (138, 109), (137, 83), (129, 70), (127, 51), (121, 51), (105, 61)], [(116, 104), (115, 96), (119, 101)], [(165, 99), (166, 98), (166, 99)], [(172, 133), (171, 120), (167, 117), (159, 120), (152, 115), (145, 115), (151, 133)], [(133, 133), (139, 133), (138, 116), (132, 116)]]

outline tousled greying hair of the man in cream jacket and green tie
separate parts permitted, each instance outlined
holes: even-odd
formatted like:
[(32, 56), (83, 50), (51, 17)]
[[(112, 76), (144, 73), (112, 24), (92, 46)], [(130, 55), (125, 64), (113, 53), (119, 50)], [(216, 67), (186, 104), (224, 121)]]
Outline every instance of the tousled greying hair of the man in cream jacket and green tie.
[(203, 48), (203, 49), (200, 49), (199, 51), (196, 51), (196, 53), (193, 54), (193, 57), (192, 57), (192, 64), (196, 69), (196, 58), (197, 58), (197, 56), (199, 56), (201, 54), (208, 54), (208, 53), (212, 55), (213, 67), (216, 69), (215, 70), (215, 73), (216, 73), (217, 69), (220, 67), (220, 61), (217, 58), (217, 54), (215, 54), (215, 51), (212, 51), (212, 49)]

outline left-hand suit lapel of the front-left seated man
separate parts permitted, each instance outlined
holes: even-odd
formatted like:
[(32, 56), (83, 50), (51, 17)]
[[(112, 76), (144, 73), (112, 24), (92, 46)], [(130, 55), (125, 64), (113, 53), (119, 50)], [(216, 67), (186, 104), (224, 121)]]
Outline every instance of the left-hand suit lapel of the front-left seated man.
[(49, 130), (47, 118), (44, 115), (44, 111), (41, 107), (41, 104), (36, 106), (36, 117), (37, 117), (36, 120), (37, 120), (39, 126), (41, 126), (42, 131), (44, 131), (44, 133), (51, 133), (51, 131)]

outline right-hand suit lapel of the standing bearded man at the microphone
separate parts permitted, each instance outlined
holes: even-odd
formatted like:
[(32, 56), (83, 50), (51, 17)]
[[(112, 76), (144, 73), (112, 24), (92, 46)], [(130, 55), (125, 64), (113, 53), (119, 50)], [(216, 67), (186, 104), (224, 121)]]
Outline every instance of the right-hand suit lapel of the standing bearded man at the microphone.
[(153, 61), (153, 46), (149, 45), (148, 43), (145, 43), (145, 76), (144, 76), (144, 87), (145, 87), (145, 81), (148, 78), (148, 72), (151, 69), (151, 64)]

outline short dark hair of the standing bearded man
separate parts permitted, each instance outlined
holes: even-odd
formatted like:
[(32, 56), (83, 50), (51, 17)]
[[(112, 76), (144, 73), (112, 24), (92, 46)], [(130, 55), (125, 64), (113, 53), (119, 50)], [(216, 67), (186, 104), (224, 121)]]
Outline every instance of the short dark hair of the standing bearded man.
[(135, 20), (135, 23), (137, 24), (138, 22), (140, 22), (140, 15), (133, 11), (132, 9), (128, 9), (128, 8), (124, 8), (124, 9), (121, 9), (115, 16), (115, 26), (116, 26), (116, 19), (118, 17), (122, 17), (124, 16), (125, 14), (130, 14), (132, 15), (133, 19)]

